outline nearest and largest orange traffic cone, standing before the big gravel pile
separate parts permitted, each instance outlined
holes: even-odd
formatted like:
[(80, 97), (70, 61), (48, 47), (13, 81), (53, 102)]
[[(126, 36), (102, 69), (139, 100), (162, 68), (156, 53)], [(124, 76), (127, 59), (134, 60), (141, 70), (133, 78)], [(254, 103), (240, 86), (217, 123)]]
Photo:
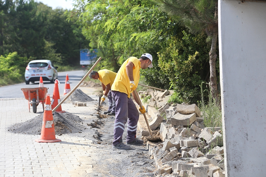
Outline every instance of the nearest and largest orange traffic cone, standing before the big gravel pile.
[(59, 142), (61, 140), (56, 139), (54, 123), (53, 123), (53, 113), (51, 107), (51, 100), (49, 94), (46, 96), (45, 109), (43, 113), (43, 125), (41, 131), (40, 139), (36, 139), (37, 142)]

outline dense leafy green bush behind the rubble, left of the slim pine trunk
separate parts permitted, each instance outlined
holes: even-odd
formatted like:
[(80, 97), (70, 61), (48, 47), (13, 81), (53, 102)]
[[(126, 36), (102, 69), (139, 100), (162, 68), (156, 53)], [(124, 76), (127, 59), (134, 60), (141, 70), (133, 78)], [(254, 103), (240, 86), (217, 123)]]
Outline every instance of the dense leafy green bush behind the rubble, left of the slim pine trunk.
[(193, 36), (185, 31), (183, 35), (182, 39), (169, 39), (168, 47), (158, 52), (158, 66), (170, 80), (177, 100), (192, 104), (200, 100), (200, 83), (209, 79), (209, 47), (205, 35)]

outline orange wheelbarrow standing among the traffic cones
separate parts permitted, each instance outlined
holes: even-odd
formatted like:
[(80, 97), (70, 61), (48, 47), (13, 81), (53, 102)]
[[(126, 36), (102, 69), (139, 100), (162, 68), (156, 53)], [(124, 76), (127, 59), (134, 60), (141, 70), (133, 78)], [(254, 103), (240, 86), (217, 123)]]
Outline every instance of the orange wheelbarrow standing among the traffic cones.
[(23, 91), (25, 99), (28, 100), (29, 112), (30, 112), (30, 105), (31, 105), (32, 111), (36, 113), (37, 106), (39, 105), (40, 101), (42, 101), (43, 111), (44, 111), (44, 100), (46, 99), (46, 94), (47, 94), (46, 87), (22, 88), (21, 90)]

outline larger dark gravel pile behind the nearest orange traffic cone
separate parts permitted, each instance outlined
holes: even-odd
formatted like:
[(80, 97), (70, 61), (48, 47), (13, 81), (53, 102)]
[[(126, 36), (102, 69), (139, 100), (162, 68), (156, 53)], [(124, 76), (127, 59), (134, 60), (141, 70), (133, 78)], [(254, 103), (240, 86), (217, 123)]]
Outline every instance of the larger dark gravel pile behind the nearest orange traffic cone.
[[(53, 121), (56, 135), (81, 133), (83, 130), (87, 129), (87, 124), (85, 124), (79, 116), (67, 112), (54, 112)], [(29, 135), (40, 135), (42, 123), (43, 114), (40, 114), (26, 122), (12, 125), (8, 128), (8, 131)]]

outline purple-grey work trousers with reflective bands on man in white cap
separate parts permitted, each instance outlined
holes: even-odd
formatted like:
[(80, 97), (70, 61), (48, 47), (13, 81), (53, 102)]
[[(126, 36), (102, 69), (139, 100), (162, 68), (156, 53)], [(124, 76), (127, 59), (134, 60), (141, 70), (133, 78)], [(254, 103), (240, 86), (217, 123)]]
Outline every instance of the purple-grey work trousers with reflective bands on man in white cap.
[(111, 91), (116, 102), (116, 118), (113, 127), (113, 145), (122, 142), (122, 137), (127, 122), (126, 142), (132, 142), (136, 138), (139, 112), (133, 100), (127, 94), (119, 91)]

